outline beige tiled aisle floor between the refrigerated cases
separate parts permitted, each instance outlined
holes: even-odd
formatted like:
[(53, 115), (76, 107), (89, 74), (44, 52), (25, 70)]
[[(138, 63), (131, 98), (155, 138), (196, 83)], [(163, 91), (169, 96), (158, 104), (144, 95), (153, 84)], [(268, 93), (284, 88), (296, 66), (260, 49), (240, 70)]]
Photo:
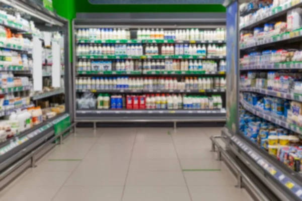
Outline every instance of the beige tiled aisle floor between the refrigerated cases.
[(220, 128), (78, 129), (0, 193), (1, 201), (252, 200), (210, 152)]

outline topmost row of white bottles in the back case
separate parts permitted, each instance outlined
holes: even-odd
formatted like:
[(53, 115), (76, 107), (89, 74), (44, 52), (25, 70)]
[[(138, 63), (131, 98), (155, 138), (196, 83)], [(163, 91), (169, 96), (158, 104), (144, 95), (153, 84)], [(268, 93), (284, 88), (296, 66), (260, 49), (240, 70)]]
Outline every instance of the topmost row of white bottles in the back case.
[(129, 30), (121, 28), (99, 28), (99, 29), (78, 29), (77, 40), (129, 40), (132, 36), (135, 39), (175, 39), (175, 40), (225, 40), (225, 29), (215, 30), (199, 29), (138, 29)]

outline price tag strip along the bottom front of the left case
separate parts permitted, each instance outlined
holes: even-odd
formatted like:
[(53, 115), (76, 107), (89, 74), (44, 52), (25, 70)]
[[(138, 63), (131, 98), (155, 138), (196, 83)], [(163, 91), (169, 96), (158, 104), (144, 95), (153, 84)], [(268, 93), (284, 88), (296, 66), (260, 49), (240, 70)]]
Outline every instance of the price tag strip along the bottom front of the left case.
[[(19, 138), (18, 141), (16, 141), (17, 137), (18, 137), (18, 135), (17, 135), (14, 139), (12, 139), (14, 141), (14, 143), (10, 143), (0, 149), (0, 156), (9, 152), (10, 150), (16, 148), (17, 146), (21, 145), (22, 143), (26, 142), (27, 140), (41, 134), (42, 132), (46, 131), (47, 129), (52, 127), (54, 124), (62, 121), (63, 119), (67, 118), (68, 116), (69, 116), (69, 114), (65, 114), (62, 117), (59, 117), (58, 119), (55, 119), (52, 122), (32, 131), (31, 133), (27, 134), (26, 136)], [(8, 140), (10, 140), (10, 139), (8, 139)]]

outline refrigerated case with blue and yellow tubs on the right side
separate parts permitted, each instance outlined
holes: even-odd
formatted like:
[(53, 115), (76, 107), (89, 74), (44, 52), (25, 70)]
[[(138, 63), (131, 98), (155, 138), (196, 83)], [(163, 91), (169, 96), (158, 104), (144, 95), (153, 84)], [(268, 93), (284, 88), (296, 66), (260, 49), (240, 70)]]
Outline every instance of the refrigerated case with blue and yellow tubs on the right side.
[(302, 24), (296, 20), (302, 2), (230, 2), (227, 13), (239, 20), (235, 29), (227, 20), (226, 29), (238, 28), (240, 57), (226, 69), (238, 77), (237, 119), (222, 130), (222, 139), (278, 199), (301, 200)]

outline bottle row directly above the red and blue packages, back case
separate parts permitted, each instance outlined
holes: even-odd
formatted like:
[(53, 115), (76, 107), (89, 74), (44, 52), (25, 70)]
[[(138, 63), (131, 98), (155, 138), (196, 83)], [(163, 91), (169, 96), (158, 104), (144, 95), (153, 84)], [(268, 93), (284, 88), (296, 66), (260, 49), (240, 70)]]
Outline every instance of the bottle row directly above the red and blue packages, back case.
[(224, 77), (80, 77), (75, 89), (224, 89)]

